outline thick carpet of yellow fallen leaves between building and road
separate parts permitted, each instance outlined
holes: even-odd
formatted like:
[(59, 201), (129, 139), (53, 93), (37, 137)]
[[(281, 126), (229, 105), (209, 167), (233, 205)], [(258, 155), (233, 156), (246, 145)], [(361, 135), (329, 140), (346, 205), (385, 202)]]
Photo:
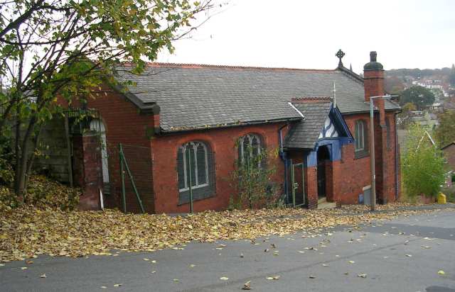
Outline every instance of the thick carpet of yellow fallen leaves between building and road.
[(69, 211), (24, 205), (0, 212), (0, 262), (50, 256), (110, 255), (113, 249), (183, 249), (191, 241), (253, 239), (299, 230), (357, 225), (413, 213), (358, 209), (206, 211), (187, 216), (124, 214), (118, 210)]

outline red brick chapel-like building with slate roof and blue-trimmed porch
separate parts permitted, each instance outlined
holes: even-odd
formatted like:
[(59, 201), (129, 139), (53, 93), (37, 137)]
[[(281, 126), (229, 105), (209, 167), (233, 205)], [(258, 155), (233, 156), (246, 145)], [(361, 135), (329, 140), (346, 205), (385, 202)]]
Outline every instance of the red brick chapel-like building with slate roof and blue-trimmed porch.
[[(370, 186), (369, 101), (385, 94), (384, 70), (371, 52), (360, 77), (342, 55), (330, 70), (151, 63), (137, 75), (128, 64), (117, 68), (119, 82), (136, 86), (105, 84), (82, 106), (97, 113), (82, 125), (88, 131), (73, 137), (77, 181), (90, 186), (82, 208), (97, 208), (100, 188), (106, 206), (132, 212), (140, 210), (137, 194), (146, 212), (188, 212), (190, 190), (195, 211), (225, 209), (235, 163), (271, 150), (277, 156), (264, 167), (277, 169), (274, 184), (288, 203), (293, 193), (308, 208), (358, 203)], [(375, 100), (380, 203), (400, 196), (398, 111)]]

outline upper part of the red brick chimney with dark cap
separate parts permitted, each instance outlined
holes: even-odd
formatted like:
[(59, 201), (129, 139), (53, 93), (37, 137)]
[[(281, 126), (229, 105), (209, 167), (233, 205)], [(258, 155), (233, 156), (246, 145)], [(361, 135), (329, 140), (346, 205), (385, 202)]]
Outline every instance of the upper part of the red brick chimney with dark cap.
[[(370, 62), (363, 66), (363, 85), (365, 87), (365, 101), (370, 102), (370, 96), (383, 96), (384, 67), (376, 61), (376, 52), (370, 52)], [(385, 108), (383, 99), (375, 99), (375, 106), (379, 108), (380, 123), (385, 125)]]

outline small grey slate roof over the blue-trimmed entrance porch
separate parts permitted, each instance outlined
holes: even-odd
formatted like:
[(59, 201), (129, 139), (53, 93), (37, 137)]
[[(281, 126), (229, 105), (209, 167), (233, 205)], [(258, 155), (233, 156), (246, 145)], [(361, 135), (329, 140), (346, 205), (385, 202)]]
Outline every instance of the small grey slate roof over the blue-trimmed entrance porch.
[(292, 125), (284, 140), (284, 147), (313, 149), (323, 130), (332, 103), (331, 101), (320, 101), (293, 104), (304, 114), (305, 120)]

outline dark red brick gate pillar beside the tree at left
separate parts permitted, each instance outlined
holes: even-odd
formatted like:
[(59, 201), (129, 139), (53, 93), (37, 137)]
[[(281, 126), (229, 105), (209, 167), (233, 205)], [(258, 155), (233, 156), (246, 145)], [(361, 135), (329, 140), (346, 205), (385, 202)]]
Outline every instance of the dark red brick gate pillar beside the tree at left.
[(102, 162), (100, 137), (94, 133), (73, 137), (74, 181), (82, 188), (80, 210), (100, 210)]

